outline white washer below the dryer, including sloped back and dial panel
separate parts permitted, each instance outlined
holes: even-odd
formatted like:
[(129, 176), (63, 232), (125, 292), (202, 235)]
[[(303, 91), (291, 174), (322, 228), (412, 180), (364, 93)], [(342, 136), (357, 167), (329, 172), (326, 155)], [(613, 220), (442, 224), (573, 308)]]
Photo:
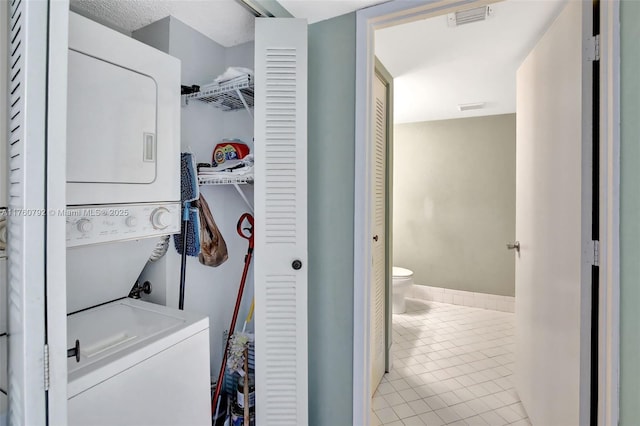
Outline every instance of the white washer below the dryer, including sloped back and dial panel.
[(126, 297), (158, 241), (147, 207), (127, 208), (136, 226), (67, 222), (68, 424), (208, 426), (209, 319)]

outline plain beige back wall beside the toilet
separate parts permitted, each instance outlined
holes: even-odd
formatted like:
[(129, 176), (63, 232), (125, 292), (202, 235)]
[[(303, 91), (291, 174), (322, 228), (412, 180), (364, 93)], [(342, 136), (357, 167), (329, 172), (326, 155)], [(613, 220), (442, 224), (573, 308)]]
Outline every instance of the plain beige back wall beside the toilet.
[(416, 284), (515, 294), (515, 114), (398, 124), (394, 265)]

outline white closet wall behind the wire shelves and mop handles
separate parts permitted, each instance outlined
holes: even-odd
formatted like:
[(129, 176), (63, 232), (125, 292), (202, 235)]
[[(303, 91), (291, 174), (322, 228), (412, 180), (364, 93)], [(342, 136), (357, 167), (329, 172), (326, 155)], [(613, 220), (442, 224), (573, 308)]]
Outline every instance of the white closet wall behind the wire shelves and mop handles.
[[(167, 47), (182, 61), (182, 84), (210, 83), (227, 66), (253, 68), (253, 43), (225, 48), (174, 17), (168, 17), (133, 33), (133, 37), (157, 48)], [(178, 88), (176, 88), (177, 90)], [(192, 101), (181, 110), (181, 147), (191, 151), (198, 162), (210, 162), (216, 143), (223, 138), (240, 138), (253, 149), (253, 120), (244, 110), (224, 112)], [(249, 199), (253, 187), (246, 186)], [(228, 329), (247, 252), (247, 240), (236, 233), (236, 222), (249, 211), (232, 186), (200, 187), (220, 228), (229, 259), (217, 268), (201, 265), (197, 258), (187, 259), (185, 310), (209, 316), (211, 374), (217, 376), (223, 352), (223, 332)], [(141, 279), (150, 280), (154, 291), (150, 300), (177, 306), (180, 281), (180, 256), (173, 239), (169, 253), (145, 268)], [(253, 297), (253, 268), (250, 270), (238, 327), (241, 328)], [(249, 329), (253, 329), (252, 325)]]

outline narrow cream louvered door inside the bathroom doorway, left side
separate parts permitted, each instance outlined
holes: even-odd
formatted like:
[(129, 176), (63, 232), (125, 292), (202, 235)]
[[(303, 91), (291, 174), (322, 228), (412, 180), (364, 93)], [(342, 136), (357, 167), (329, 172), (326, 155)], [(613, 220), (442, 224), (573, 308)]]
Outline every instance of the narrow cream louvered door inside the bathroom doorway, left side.
[(373, 82), (373, 136), (371, 218), (372, 282), (371, 282), (371, 394), (376, 391), (385, 370), (385, 219), (387, 164), (387, 85), (376, 74)]

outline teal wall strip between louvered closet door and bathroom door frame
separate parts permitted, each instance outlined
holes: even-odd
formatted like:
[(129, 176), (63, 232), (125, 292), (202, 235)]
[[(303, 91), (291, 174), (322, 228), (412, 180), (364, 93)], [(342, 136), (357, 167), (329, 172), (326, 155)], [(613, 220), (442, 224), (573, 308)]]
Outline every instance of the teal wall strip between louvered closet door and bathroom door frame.
[(353, 401), (355, 13), (309, 26), (309, 424)]

